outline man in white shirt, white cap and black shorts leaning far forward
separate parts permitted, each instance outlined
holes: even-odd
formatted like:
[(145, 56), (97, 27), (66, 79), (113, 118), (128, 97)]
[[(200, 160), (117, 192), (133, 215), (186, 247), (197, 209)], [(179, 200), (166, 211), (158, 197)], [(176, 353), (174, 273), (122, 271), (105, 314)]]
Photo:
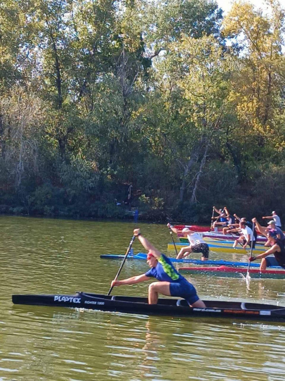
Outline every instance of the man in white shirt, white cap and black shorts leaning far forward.
[(185, 258), (189, 256), (190, 252), (200, 252), (201, 261), (207, 261), (209, 259), (209, 246), (198, 233), (193, 232), (188, 228), (178, 230), (170, 224), (167, 224), (167, 228), (171, 229), (171, 231), (175, 234), (184, 233), (187, 235), (188, 241), (190, 243), (189, 246), (182, 247), (182, 249), (177, 254), (176, 259)]

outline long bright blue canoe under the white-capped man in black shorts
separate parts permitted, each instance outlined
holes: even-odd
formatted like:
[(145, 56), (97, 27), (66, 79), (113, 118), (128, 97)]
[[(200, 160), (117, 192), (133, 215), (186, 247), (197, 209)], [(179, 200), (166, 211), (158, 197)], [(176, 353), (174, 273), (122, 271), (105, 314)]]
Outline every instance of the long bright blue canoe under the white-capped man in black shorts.
[[(116, 255), (116, 254), (103, 254), (100, 256), (101, 259), (119, 259), (119, 260), (123, 260), (125, 256), (122, 256), (122, 255)], [(214, 265), (214, 266), (221, 266), (221, 265), (224, 265), (224, 266), (248, 266), (248, 262), (232, 262), (232, 261), (223, 261), (223, 260), (220, 260), (220, 261), (201, 261), (201, 260), (198, 260), (198, 259), (176, 259), (176, 258), (171, 258), (171, 257), (168, 257), (170, 259), (171, 262), (175, 262), (175, 263), (192, 263), (192, 264), (195, 264), (195, 265)], [(142, 260), (142, 261), (146, 261), (147, 259), (147, 255), (146, 253), (144, 252), (139, 252), (133, 256), (128, 256), (128, 259), (130, 260)], [(251, 263), (251, 267), (259, 267), (260, 266), (260, 263)], [(271, 269), (280, 269), (279, 266), (270, 266)]]

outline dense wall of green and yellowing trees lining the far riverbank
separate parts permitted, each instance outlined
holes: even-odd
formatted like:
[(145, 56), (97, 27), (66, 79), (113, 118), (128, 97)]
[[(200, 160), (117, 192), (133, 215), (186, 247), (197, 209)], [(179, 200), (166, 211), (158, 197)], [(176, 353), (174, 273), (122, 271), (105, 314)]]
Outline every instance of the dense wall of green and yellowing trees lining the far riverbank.
[(3, 0), (0, 212), (285, 218), (284, 10)]

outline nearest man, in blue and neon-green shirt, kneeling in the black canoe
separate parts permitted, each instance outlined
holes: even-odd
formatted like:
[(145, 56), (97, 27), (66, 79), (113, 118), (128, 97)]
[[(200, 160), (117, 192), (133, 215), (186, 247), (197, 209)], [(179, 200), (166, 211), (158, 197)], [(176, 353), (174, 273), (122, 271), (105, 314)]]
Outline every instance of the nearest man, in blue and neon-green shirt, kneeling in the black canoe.
[(169, 259), (154, 247), (147, 238), (143, 237), (139, 229), (134, 229), (133, 234), (138, 238), (142, 246), (148, 250), (147, 263), (151, 269), (145, 274), (123, 280), (113, 280), (112, 287), (139, 283), (154, 277), (158, 282), (149, 285), (149, 304), (157, 304), (158, 294), (162, 294), (184, 298), (190, 306), (204, 308), (205, 303), (199, 299), (193, 284), (177, 272)]

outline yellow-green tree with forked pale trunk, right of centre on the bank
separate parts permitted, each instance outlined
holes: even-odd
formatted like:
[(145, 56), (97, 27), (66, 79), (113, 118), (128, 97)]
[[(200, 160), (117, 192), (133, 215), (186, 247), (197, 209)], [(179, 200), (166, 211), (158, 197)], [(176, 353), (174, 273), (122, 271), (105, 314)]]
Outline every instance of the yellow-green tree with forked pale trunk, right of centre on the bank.
[[(153, 109), (155, 122), (150, 131), (157, 136), (156, 150), (168, 156), (168, 161), (169, 156), (174, 158), (182, 171), (181, 201), (189, 173), (197, 161), (202, 163), (201, 173), (209, 145), (223, 127), (231, 65), (230, 56), (225, 57), (223, 47), (211, 36), (198, 40), (182, 36), (156, 62), (153, 99), (159, 109)], [(148, 114), (152, 115), (149, 108)], [(197, 185), (194, 182), (193, 200)]]

